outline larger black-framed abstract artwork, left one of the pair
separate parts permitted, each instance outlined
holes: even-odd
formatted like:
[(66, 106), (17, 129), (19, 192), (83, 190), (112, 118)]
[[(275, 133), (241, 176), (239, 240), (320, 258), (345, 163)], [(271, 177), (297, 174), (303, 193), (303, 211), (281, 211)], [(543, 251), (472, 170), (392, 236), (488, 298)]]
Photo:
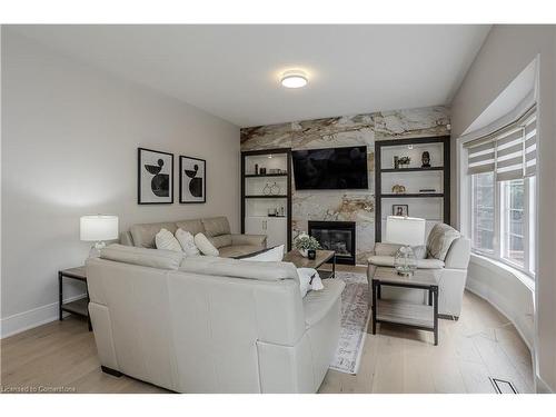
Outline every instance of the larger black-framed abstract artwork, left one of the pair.
[(138, 202), (173, 202), (173, 153), (138, 148)]

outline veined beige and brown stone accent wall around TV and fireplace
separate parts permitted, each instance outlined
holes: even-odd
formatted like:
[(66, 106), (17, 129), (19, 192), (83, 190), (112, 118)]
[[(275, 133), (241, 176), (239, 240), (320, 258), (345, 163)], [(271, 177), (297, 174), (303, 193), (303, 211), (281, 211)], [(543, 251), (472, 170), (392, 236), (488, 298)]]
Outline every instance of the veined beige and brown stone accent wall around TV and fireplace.
[(308, 220), (355, 221), (357, 262), (366, 264), (375, 245), (375, 140), (449, 135), (446, 107), (428, 107), (241, 129), (241, 150), (317, 149), (367, 146), (368, 190), (295, 190), (292, 237)]

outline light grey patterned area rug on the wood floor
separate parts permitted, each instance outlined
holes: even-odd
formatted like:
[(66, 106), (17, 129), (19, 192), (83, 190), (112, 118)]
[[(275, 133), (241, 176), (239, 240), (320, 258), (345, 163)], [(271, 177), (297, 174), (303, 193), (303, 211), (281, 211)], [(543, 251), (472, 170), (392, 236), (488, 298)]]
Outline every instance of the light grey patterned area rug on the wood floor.
[(330, 369), (355, 375), (359, 369), (369, 319), (367, 277), (365, 274), (337, 271), (336, 279), (345, 281), (346, 288), (341, 292), (340, 338)]

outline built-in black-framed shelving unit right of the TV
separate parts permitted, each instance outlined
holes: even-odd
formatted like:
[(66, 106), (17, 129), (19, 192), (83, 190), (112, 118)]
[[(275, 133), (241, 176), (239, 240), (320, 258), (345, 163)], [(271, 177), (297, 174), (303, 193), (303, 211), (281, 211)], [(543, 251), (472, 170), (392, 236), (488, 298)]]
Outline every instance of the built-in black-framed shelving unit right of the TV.
[[(430, 167), (423, 167), (428, 151)], [(394, 157), (410, 157), (409, 166), (396, 168)], [(407, 206), (408, 216), (427, 220), (427, 234), (437, 222), (449, 222), (449, 136), (375, 142), (375, 239), (381, 241), (386, 217), (395, 206)], [(404, 192), (393, 190), (405, 187)], [(420, 191), (420, 190), (426, 191)]]

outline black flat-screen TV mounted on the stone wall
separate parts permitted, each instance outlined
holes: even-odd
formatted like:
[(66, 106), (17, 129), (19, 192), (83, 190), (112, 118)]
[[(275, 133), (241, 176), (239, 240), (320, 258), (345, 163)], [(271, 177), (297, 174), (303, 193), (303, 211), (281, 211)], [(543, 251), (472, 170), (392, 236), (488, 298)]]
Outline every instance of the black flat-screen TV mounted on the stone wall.
[(298, 190), (368, 189), (367, 147), (291, 152)]

